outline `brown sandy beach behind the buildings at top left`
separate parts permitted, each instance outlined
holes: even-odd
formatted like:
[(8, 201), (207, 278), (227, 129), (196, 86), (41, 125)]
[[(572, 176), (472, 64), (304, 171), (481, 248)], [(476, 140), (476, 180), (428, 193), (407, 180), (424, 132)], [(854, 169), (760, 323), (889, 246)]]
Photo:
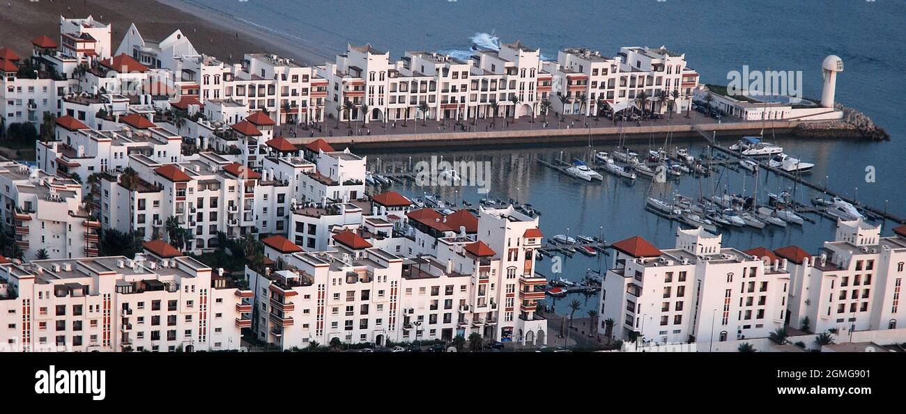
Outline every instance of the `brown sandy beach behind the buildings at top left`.
[(0, 3), (0, 47), (28, 56), (35, 37), (45, 34), (59, 39), (60, 15), (86, 17), (89, 14), (113, 25), (114, 49), (120, 45), (130, 24), (135, 23), (148, 40), (161, 40), (179, 29), (198, 52), (227, 62), (239, 61), (244, 53), (273, 52), (297, 61), (321, 64), (333, 54), (297, 46), (275, 33), (181, 0), (7, 0)]

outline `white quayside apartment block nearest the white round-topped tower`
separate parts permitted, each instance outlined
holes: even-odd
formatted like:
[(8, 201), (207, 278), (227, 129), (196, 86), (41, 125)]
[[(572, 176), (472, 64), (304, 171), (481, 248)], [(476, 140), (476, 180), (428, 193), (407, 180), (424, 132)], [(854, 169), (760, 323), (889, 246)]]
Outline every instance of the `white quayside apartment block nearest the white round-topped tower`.
[[(642, 91), (654, 98), (660, 91), (670, 97), (674, 90), (679, 92), (679, 99), (673, 110), (679, 113), (689, 108), (692, 90), (699, 85), (699, 74), (686, 66), (685, 55), (663, 46), (623, 47), (615, 57), (583, 48), (564, 49), (557, 53), (557, 61), (546, 63), (545, 68), (554, 73), (552, 108), (565, 115), (621, 110), (637, 105), (634, 100)], [(652, 103), (657, 112), (668, 109), (666, 101), (656, 100), (648, 101), (646, 108), (651, 110)]]

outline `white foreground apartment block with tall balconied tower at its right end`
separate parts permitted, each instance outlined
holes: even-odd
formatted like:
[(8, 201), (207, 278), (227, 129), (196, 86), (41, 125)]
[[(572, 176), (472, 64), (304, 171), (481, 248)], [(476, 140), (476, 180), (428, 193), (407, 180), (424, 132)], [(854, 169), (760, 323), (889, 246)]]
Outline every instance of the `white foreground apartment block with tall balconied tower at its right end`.
[(398, 238), (375, 227), (376, 217), (363, 217), (359, 229), (333, 232), (324, 251), (304, 251), (282, 236), (263, 240), (273, 268), (260, 275), (246, 267), (255, 280), (259, 337), (283, 349), (333, 338), (385, 343), (475, 332), (546, 343), (546, 320), (535, 315), (545, 296), (537, 287), (546, 283), (533, 268), (542, 239), (537, 219), (512, 208), (482, 210), (473, 216), (475, 234), (458, 235), (429, 226), (427, 216), (410, 215), (410, 235)]

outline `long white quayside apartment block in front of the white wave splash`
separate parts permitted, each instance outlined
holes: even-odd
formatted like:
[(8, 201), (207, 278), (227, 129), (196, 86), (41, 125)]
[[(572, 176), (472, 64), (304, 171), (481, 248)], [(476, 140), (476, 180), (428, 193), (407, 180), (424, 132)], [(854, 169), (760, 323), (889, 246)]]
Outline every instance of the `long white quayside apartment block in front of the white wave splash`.
[[(406, 52), (400, 61), (392, 62), (389, 52), (371, 44), (349, 45), (335, 62), (316, 69), (329, 82), (328, 113), (366, 124), (537, 115), (538, 102), (547, 98), (552, 79), (541, 70), (538, 50), (520, 42), (503, 44), (499, 52), (477, 51), (468, 61), (433, 52)], [(343, 108), (347, 101), (352, 110)], [(492, 102), (498, 106), (496, 114)], [(428, 106), (427, 114), (422, 113), (422, 104)], [(363, 105), (368, 114), (362, 114)]]

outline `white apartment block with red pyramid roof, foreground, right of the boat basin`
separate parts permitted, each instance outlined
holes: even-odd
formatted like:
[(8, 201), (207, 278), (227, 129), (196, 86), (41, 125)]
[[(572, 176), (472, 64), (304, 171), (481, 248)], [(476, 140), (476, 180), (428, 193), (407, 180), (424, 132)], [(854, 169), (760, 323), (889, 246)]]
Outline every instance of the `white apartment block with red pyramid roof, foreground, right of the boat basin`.
[[(675, 249), (641, 237), (612, 245), (601, 321), (615, 339), (706, 343), (766, 337), (783, 327), (790, 275), (777, 261), (721, 247), (702, 229), (677, 231)], [(602, 323), (598, 330), (608, 334)]]

